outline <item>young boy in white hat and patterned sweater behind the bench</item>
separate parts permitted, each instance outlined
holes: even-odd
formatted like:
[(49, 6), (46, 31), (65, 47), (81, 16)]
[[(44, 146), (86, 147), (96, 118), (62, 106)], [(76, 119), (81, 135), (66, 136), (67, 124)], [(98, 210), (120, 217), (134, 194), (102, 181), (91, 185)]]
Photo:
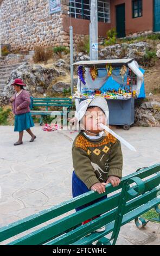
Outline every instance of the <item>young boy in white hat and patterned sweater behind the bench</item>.
[[(92, 100), (81, 101), (78, 106), (75, 119), (79, 126), (79, 134), (74, 139), (72, 147), (73, 197), (90, 190), (104, 193), (108, 183), (111, 183), (112, 186), (118, 186), (120, 183), (123, 167), (120, 142), (99, 126), (100, 123), (106, 125), (107, 118), (108, 106), (103, 97), (97, 96)], [(76, 211), (105, 198), (106, 196), (101, 197), (85, 206), (76, 208)], [(94, 218), (96, 217), (98, 216)], [(97, 231), (104, 230), (105, 227), (101, 227)]]

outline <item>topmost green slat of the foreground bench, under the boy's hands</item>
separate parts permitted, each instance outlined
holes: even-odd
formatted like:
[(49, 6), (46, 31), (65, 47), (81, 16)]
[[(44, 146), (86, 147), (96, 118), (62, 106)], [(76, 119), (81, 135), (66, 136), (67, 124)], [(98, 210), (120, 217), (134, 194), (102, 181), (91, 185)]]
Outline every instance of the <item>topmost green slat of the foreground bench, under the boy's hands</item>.
[(14, 222), (9, 224), (7, 227), (3, 227), (0, 229), (0, 241), (3, 241), (5, 239), (8, 239), (11, 236), (14, 236), (16, 234), (19, 234), (25, 230), (28, 230), (32, 227), (35, 227), (36, 225), (39, 225), (45, 221), (51, 220), (54, 217), (57, 217), (61, 214), (64, 214), (70, 210), (75, 209), (76, 207), (82, 206), (84, 204), (87, 204), (91, 202), (92, 200), (98, 199), (105, 194), (112, 193), (119, 188), (123, 186), (123, 183), (134, 176), (138, 176), (139, 178), (143, 179), (146, 178), (148, 175), (152, 175), (154, 173), (157, 173), (160, 169), (160, 164), (155, 164), (152, 167), (146, 168), (144, 170), (139, 170), (137, 173), (133, 173), (130, 175), (127, 175), (123, 179), (121, 179), (120, 185), (118, 188), (112, 187), (111, 184), (108, 184), (106, 187), (106, 193), (103, 195), (95, 193), (93, 191), (87, 192), (85, 194), (82, 194), (79, 197), (73, 198), (67, 202), (63, 202), (60, 205), (56, 205), (53, 208), (43, 210), (39, 212), (36, 215), (31, 215), (27, 218), (23, 218), (20, 221)]

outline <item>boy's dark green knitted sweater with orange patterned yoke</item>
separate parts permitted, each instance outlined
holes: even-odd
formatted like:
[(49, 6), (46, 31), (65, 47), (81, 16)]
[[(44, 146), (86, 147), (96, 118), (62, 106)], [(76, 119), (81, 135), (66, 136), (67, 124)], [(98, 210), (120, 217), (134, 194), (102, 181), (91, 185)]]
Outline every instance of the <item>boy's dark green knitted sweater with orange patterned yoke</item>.
[(81, 131), (73, 142), (72, 159), (75, 174), (88, 189), (97, 182), (105, 182), (108, 176), (122, 176), (121, 145), (110, 133), (93, 140)]

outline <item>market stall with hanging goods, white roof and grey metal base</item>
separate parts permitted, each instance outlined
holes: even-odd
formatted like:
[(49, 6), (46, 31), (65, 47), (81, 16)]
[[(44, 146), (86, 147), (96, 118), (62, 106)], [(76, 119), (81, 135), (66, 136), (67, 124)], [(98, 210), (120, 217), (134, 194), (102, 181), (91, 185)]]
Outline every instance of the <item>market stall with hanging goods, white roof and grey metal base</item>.
[(134, 59), (91, 60), (78, 66), (76, 106), (81, 100), (102, 96), (107, 100), (110, 125), (129, 130), (135, 118), (135, 99), (145, 97), (144, 70)]

